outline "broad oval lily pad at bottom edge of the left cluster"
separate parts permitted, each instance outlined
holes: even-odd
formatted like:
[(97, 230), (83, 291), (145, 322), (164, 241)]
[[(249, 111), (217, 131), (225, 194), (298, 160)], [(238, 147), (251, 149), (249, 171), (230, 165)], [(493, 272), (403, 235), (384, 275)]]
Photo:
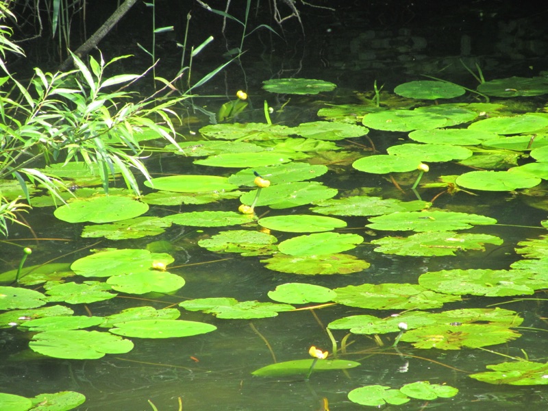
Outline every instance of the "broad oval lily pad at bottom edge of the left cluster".
[(72, 360), (95, 360), (105, 354), (123, 354), (133, 343), (108, 332), (63, 329), (34, 335), (29, 347), (44, 356)]

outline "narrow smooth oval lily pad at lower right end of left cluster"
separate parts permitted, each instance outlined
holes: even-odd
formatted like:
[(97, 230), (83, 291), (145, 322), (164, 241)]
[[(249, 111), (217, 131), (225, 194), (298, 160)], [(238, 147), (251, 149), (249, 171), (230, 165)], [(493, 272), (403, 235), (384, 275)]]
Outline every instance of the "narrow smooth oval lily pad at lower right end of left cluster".
[(109, 331), (125, 337), (174, 338), (206, 334), (216, 329), (214, 325), (198, 321), (154, 319), (116, 323)]

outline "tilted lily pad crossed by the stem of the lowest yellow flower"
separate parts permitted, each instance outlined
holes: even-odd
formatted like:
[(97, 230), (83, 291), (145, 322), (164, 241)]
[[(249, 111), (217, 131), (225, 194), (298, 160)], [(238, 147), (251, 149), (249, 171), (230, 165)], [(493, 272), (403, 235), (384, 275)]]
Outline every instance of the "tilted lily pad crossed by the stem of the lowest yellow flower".
[[(312, 358), (310, 360), (293, 360), (277, 362), (263, 366), (262, 368), (253, 371), (253, 375), (260, 377), (284, 377), (286, 375), (306, 375), (310, 366), (312, 365)], [(329, 371), (329, 370), (346, 370), (361, 365), (356, 361), (349, 360), (321, 360), (317, 361), (314, 365), (314, 372), (316, 371)]]

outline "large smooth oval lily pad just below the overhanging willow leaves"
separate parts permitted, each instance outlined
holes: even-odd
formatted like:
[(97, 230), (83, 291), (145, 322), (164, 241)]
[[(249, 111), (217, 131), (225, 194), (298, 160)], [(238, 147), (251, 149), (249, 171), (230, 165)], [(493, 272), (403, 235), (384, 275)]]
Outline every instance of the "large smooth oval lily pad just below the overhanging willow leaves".
[(145, 214), (149, 206), (133, 197), (119, 195), (97, 196), (75, 199), (56, 209), (53, 214), (69, 223), (112, 223), (133, 219)]

